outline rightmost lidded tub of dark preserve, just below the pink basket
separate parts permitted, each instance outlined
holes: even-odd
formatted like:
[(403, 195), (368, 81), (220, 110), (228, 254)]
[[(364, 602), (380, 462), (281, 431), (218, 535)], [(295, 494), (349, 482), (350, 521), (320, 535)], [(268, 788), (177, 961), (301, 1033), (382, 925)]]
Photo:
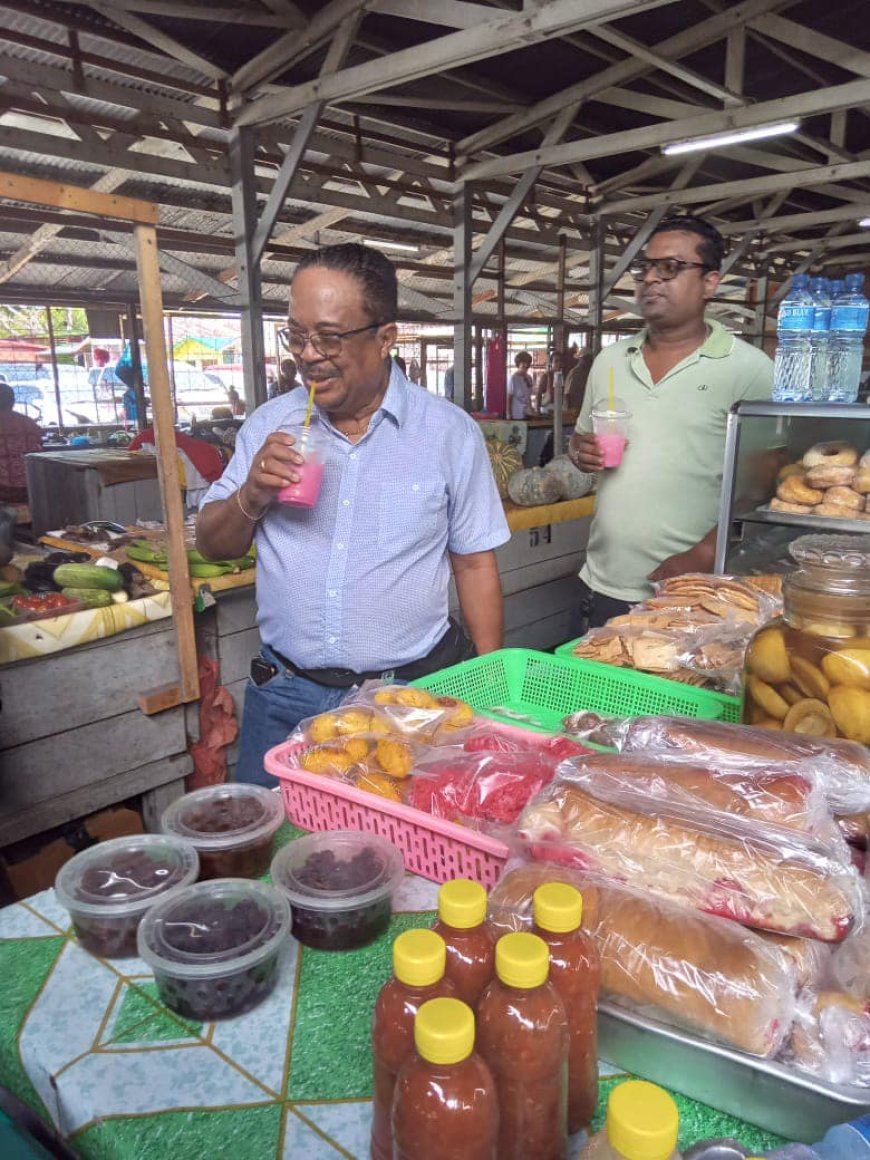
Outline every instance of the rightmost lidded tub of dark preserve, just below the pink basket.
[(292, 909), (293, 935), (319, 950), (364, 947), (383, 934), (404, 873), (392, 842), (357, 829), (299, 838), (271, 863), (271, 880)]

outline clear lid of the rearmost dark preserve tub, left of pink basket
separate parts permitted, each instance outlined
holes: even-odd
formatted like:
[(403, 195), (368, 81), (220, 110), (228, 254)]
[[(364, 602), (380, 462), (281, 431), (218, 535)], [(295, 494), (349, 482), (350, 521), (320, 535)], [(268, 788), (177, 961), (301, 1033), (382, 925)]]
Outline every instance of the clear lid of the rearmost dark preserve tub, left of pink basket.
[(226, 850), (271, 838), (284, 820), (281, 795), (264, 785), (230, 782), (194, 790), (164, 811), (160, 828), (200, 850)]

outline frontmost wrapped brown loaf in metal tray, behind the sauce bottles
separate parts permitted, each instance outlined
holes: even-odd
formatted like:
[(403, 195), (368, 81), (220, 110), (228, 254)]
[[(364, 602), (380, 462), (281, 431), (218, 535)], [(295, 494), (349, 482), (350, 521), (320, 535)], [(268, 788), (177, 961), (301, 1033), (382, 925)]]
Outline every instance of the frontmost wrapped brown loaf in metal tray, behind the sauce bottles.
[(780, 1049), (796, 987), (790, 959), (775, 945), (734, 922), (544, 862), (502, 877), (490, 894), (490, 925), (498, 933), (528, 929), (544, 882), (568, 882), (583, 896), (602, 999), (753, 1056)]

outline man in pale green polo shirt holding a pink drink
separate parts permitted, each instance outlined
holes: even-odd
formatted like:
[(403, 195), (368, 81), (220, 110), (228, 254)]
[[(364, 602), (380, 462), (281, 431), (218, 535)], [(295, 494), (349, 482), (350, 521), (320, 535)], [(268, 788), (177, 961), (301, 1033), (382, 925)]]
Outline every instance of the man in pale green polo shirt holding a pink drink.
[[(646, 327), (604, 347), (592, 365), (570, 455), (599, 472), (580, 573), (589, 625), (651, 595), (655, 581), (710, 572), (731, 407), (770, 398), (774, 364), (706, 316), (725, 244), (704, 218), (659, 223), (629, 267)], [(631, 413), (618, 467), (603, 470), (593, 407), (615, 397)]]

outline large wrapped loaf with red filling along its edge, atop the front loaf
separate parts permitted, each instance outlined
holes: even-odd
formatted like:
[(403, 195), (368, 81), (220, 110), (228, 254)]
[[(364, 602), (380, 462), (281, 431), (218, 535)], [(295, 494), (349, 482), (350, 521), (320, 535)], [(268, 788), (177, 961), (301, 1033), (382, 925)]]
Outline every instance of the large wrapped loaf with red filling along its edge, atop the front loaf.
[(519, 829), (535, 857), (761, 930), (839, 942), (861, 912), (857, 875), (838, 849), (631, 789), (592, 790), (559, 777), (527, 806)]

